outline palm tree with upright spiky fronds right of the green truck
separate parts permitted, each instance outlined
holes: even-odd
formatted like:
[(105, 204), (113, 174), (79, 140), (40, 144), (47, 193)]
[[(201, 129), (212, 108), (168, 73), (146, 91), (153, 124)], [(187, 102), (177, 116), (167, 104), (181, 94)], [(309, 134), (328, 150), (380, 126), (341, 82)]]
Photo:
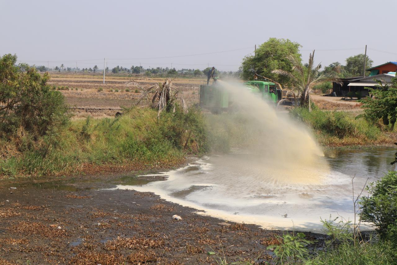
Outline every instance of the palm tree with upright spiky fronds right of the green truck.
[(301, 99), (301, 105), (308, 107), (309, 110), (311, 110), (310, 92), (314, 86), (324, 82), (336, 82), (341, 84), (336, 73), (319, 73), (321, 64), (314, 66), (314, 51), (309, 55), (307, 66), (302, 64), (301, 58), (294, 57), (293, 55), (287, 56), (287, 59), (292, 64), (292, 73), (281, 69), (273, 70), (272, 73), (291, 78), (293, 87), (298, 92), (298, 96)]

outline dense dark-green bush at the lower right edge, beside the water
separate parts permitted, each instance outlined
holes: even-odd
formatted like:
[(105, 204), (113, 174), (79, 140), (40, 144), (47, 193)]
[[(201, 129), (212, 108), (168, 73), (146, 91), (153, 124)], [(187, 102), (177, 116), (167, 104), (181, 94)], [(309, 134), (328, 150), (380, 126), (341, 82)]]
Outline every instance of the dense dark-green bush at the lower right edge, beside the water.
[[(370, 197), (362, 197), (362, 220), (372, 222), (382, 238), (395, 237), (397, 226), (397, 171), (389, 171), (382, 179), (366, 187)], [(397, 244), (397, 242), (395, 242)]]

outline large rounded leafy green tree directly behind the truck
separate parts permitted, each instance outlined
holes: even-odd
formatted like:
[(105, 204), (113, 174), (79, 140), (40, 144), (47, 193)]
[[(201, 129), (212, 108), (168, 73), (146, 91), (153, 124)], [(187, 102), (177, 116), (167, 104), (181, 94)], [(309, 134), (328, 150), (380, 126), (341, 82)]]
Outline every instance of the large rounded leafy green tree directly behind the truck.
[(279, 80), (282, 85), (289, 83), (286, 76), (273, 74), (272, 70), (281, 69), (292, 71), (292, 64), (287, 58), (289, 55), (301, 58), (301, 45), (289, 39), (270, 38), (256, 49), (256, 55), (246, 56), (241, 65), (241, 78), (250, 80), (255, 73), (273, 80)]

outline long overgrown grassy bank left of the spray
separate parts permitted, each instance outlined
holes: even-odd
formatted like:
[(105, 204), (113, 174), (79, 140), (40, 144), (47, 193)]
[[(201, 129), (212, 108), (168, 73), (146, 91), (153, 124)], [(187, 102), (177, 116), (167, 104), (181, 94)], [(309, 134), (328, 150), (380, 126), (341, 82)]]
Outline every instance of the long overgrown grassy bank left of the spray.
[(165, 168), (183, 162), (186, 152), (204, 152), (201, 114), (132, 108), (117, 119), (70, 121), (38, 139), (19, 131), (1, 140), (2, 178), (70, 175)]

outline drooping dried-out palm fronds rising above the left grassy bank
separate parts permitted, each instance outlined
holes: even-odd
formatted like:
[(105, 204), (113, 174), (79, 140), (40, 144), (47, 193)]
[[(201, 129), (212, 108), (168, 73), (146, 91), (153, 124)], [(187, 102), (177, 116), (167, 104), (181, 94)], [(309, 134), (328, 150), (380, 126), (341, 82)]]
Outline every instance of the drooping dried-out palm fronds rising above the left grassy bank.
[[(127, 84), (139, 86), (139, 83), (134, 80), (127, 82)], [(140, 86), (140, 88), (142, 94), (135, 105), (138, 105), (142, 100), (147, 99), (151, 102), (151, 107), (153, 109), (158, 109), (157, 117), (160, 117), (160, 113), (164, 110), (175, 111), (175, 103), (179, 103), (183, 112), (187, 113), (186, 100), (182, 93), (173, 86), (170, 79), (167, 78), (164, 83), (156, 83), (148, 88), (144, 88), (143, 86)]]

